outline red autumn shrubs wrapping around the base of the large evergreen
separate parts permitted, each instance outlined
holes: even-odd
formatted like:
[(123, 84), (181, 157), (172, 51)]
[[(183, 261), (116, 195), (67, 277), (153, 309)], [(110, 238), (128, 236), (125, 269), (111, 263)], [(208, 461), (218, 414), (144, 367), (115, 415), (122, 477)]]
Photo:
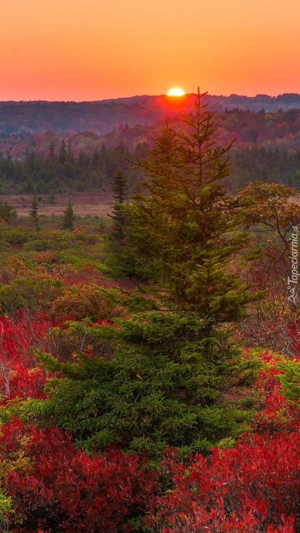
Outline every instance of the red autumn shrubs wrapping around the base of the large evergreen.
[[(49, 374), (31, 346), (51, 345), (59, 322), (39, 311), (29, 320), (25, 310), (0, 322), (4, 419), (18, 397), (45, 398)], [(251, 431), (231, 448), (184, 462), (172, 448), (157, 466), (117, 448), (90, 456), (70, 433), (9, 417), (0, 435), (1, 490), (11, 498), (3, 523), (15, 533), (298, 531), (300, 411), (281, 393), (280, 357), (260, 357)]]

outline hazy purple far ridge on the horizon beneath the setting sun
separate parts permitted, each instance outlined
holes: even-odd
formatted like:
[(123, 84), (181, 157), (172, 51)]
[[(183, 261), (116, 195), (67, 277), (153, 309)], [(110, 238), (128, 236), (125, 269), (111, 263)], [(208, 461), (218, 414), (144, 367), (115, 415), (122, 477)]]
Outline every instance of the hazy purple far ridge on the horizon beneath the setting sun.
[[(136, 124), (147, 126), (168, 115), (193, 110), (194, 95), (187, 94), (180, 99), (160, 96), (133, 96), (115, 100), (95, 102), (47, 102), (20, 101), (0, 102), (0, 134), (45, 133), (53, 130), (60, 135), (74, 135), (92, 130), (104, 135), (119, 124), (129, 127)], [(275, 112), (300, 108), (300, 94), (285, 93), (278, 96), (257, 94), (256, 96), (206, 95), (202, 100), (209, 108), (223, 112), (226, 109)]]

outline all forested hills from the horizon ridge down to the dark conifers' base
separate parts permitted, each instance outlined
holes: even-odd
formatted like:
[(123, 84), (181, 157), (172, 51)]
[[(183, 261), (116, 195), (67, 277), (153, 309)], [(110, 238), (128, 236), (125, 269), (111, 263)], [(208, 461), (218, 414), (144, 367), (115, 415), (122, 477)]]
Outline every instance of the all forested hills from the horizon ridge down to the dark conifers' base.
[[(256, 111), (242, 109), (246, 96), (206, 101), (214, 109), (222, 98), (228, 107), (215, 111), (215, 140), (226, 146), (234, 139), (229, 190), (255, 180), (300, 189), (300, 95), (257, 95)], [(187, 95), (171, 101), (0, 102), (0, 193), (110, 192), (118, 171), (133, 191), (141, 175), (130, 161), (147, 158), (166, 115), (178, 127), (177, 115), (192, 101)], [(282, 105), (270, 111), (271, 104)]]

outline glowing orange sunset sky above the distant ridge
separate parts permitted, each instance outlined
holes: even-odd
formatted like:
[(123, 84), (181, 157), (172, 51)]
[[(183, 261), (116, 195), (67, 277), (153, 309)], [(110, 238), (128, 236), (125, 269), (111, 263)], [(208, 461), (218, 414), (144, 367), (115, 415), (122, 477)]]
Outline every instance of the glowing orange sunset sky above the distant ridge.
[(14, 0), (0, 100), (300, 93), (299, 0)]

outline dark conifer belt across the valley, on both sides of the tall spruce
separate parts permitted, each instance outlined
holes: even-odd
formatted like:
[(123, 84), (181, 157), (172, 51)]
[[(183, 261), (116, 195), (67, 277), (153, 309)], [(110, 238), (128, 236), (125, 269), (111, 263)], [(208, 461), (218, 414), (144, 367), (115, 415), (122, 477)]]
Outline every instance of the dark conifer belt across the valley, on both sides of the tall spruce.
[[(51, 143), (47, 157), (28, 155), (21, 163), (8, 154), (0, 159), (0, 193), (51, 195), (58, 192), (110, 191), (117, 172), (126, 176), (129, 191), (141, 179), (141, 172), (133, 169), (131, 160), (147, 158), (148, 143), (138, 144), (134, 150), (120, 142), (115, 148), (81, 151), (74, 157), (69, 144), (62, 140), (59, 149)], [(299, 188), (300, 150), (254, 146), (233, 149), (231, 171), (225, 183), (230, 192), (245, 187), (249, 181), (280, 183)]]

